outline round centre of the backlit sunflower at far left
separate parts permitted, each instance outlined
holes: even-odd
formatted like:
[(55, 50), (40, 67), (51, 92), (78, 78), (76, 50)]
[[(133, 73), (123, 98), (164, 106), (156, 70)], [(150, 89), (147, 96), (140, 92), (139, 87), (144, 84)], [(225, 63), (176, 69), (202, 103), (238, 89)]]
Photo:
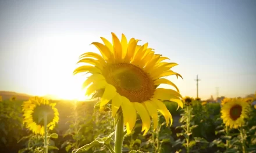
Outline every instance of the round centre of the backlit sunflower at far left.
[(52, 107), (49, 105), (37, 105), (37, 107), (34, 108), (34, 111), (32, 113), (33, 121), (37, 123), (37, 125), (44, 125), (44, 114), (47, 114), (47, 125), (48, 123), (52, 122), (54, 119), (54, 110), (52, 110)]

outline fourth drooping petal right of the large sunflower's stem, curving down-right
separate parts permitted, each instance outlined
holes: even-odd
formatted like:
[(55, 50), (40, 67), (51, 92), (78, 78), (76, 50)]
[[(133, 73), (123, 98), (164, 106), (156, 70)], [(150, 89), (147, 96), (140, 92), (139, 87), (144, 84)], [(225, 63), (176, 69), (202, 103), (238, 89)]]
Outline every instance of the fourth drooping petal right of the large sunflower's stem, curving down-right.
[(151, 101), (152, 101), (152, 104), (155, 105), (157, 110), (165, 117), (166, 126), (169, 125), (169, 121), (171, 121), (171, 125), (172, 125), (172, 116), (170, 116), (170, 112), (167, 110), (165, 104), (163, 104), (162, 101), (154, 98), (151, 99)]

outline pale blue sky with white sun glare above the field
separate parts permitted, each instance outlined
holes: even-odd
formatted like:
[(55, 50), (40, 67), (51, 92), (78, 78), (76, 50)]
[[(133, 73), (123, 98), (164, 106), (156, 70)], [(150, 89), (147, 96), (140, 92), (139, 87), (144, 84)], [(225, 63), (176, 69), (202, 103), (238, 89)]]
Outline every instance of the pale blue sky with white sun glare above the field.
[(83, 99), (80, 54), (100, 37), (140, 39), (177, 63), (183, 96), (256, 91), (256, 1), (0, 1), (0, 90)]

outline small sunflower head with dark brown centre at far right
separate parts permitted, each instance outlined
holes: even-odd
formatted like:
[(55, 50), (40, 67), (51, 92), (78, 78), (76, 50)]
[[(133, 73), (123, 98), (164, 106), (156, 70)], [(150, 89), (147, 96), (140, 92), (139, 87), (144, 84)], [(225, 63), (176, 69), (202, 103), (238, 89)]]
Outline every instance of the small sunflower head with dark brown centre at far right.
[(223, 105), (221, 118), (226, 126), (237, 129), (244, 124), (244, 119), (248, 118), (249, 104), (242, 99), (229, 99)]

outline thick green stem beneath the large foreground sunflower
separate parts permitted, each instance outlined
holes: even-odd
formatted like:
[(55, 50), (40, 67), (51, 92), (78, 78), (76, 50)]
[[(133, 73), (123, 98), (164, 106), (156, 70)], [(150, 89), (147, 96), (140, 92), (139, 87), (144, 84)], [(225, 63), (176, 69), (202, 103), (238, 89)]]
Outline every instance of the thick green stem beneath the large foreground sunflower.
[(117, 114), (117, 123), (115, 130), (115, 153), (122, 153), (123, 147), (123, 116)]

